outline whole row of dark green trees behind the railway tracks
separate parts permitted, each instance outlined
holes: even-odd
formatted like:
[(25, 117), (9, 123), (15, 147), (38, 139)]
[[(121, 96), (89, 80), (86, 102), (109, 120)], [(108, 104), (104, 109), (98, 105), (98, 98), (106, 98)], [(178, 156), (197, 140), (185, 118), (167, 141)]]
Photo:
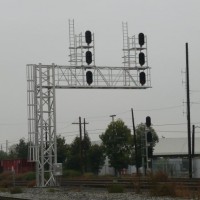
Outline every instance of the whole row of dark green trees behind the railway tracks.
[[(142, 142), (146, 125), (139, 124), (136, 127), (137, 141), (137, 162), (135, 160), (134, 137), (131, 130), (125, 123), (118, 119), (108, 124), (107, 129), (99, 138), (101, 144), (92, 144), (88, 134), (86, 133), (80, 141), (80, 137), (75, 137), (71, 144), (66, 144), (66, 140), (61, 135), (57, 136), (57, 162), (63, 163), (64, 169), (72, 169), (84, 172), (92, 172), (98, 174), (108, 157), (109, 166), (115, 169), (115, 174), (122, 169), (127, 169), (129, 165), (141, 167), (142, 153), (144, 144)], [(158, 136), (155, 130), (150, 127), (152, 133), (152, 148), (158, 142)], [(0, 150), (0, 160), (3, 159), (27, 159), (28, 158), (28, 142), (22, 138), (18, 144), (10, 149), (9, 153)]]

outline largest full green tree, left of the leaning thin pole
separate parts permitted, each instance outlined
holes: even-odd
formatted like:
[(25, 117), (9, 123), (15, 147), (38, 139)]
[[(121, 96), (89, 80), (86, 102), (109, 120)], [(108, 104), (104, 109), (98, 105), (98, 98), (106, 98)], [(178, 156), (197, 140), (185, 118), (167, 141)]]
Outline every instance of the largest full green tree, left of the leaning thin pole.
[(105, 133), (99, 136), (109, 164), (115, 169), (115, 175), (131, 163), (132, 136), (131, 130), (121, 119), (111, 122)]

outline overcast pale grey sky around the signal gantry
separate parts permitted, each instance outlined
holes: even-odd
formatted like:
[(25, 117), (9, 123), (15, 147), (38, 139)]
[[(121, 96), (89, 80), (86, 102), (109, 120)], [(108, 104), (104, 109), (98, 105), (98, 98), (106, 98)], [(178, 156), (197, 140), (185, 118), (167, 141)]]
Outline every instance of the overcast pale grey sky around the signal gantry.
[(111, 114), (131, 128), (133, 108), (136, 124), (151, 116), (159, 137), (187, 137), (181, 71), (188, 42), (191, 122), (200, 125), (199, 11), (199, 0), (0, 0), (0, 144), (28, 137), (26, 64), (69, 65), (68, 19), (77, 34), (94, 32), (97, 66), (122, 66), (122, 22), (130, 36), (145, 33), (152, 89), (57, 90), (58, 134), (71, 142), (81, 116), (98, 140)]

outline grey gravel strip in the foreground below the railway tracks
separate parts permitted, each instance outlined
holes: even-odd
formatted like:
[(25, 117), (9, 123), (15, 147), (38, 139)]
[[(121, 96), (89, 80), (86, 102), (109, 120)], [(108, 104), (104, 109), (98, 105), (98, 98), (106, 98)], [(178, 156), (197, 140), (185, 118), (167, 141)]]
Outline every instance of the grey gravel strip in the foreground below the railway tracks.
[(0, 196), (18, 197), (34, 200), (180, 200), (170, 197), (148, 197), (148, 194), (136, 194), (134, 192), (111, 194), (103, 190), (79, 190), (79, 189), (53, 189), (28, 188), (21, 194), (0, 192)]

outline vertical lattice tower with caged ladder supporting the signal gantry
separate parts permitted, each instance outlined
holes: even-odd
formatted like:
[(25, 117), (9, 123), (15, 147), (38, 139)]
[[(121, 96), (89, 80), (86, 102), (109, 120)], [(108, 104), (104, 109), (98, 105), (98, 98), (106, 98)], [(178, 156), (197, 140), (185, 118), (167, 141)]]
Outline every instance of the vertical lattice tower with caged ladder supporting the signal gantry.
[(54, 64), (27, 66), (27, 76), (29, 159), (36, 161), (37, 186), (55, 186), (53, 171), (53, 166), (57, 163), (55, 66)]

